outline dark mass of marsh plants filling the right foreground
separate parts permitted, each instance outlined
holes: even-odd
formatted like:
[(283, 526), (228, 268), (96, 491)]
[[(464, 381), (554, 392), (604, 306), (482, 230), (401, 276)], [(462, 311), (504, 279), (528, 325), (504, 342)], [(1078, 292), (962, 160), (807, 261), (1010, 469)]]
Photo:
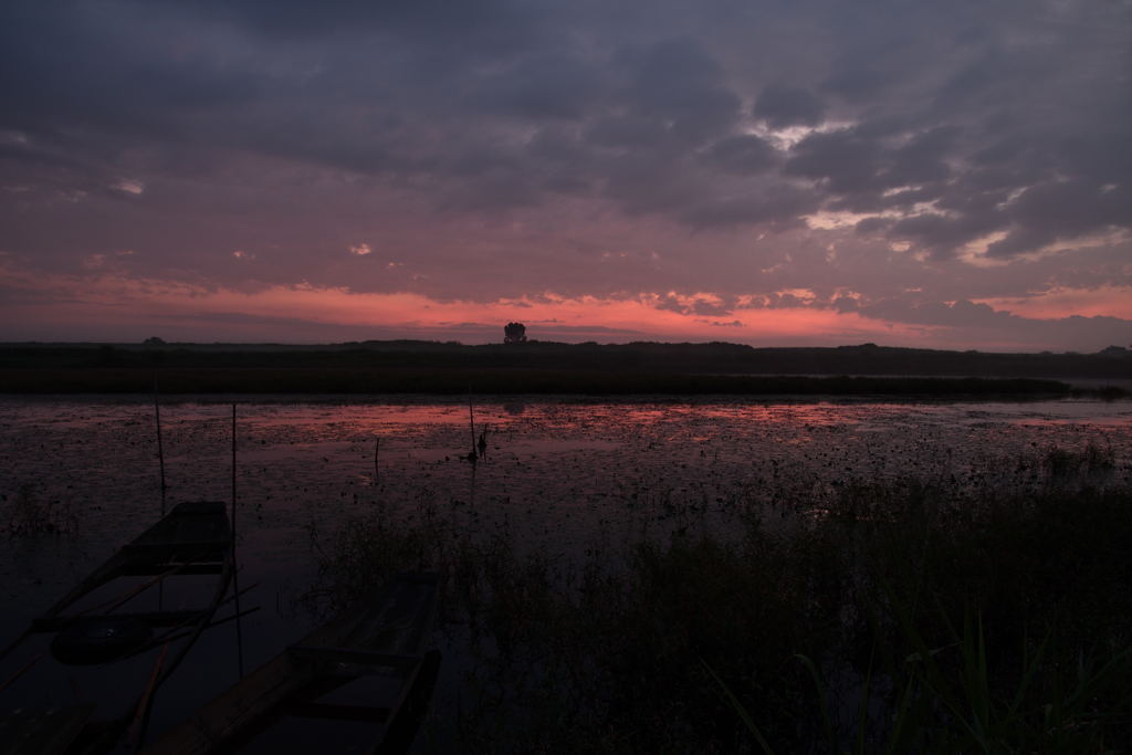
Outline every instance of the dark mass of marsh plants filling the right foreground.
[(994, 472), (737, 491), (734, 537), (575, 564), (375, 514), (324, 538), (324, 577), (348, 601), (446, 575), (469, 752), (1126, 752), (1129, 471), (1089, 447), (1020, 460), (1015, 495)]

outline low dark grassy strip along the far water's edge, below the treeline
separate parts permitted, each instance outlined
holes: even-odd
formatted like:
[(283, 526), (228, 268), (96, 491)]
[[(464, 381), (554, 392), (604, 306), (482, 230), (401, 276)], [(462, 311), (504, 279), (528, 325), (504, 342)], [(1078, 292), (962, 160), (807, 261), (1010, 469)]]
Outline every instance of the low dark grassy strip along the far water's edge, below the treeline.
[(345, 368), (0, 369), (0, 393), (72, 394), (576, 394), (592, 396), (800, 395), (1047, 398), (1100, 395), (1056, 380), (1024, 378), (801, 377), (685, 375), (589, 370), (461, 370)]

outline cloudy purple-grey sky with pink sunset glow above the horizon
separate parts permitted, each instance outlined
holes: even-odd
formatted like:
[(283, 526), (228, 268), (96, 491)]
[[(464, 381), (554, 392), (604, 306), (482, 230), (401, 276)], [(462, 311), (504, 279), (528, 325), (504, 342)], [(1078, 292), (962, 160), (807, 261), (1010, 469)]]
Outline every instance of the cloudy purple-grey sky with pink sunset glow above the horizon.
[(1132, 345), (1132, 0), (5, 0), (0, 341)]

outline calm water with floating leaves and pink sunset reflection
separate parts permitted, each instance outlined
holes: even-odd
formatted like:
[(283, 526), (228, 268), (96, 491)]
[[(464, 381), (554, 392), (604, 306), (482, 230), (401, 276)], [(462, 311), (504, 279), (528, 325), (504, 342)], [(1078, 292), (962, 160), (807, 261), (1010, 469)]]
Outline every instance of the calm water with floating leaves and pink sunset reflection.
[[(231, 404), (165, 400), (168, 505), (230, 500)], [(241, 586), (260, 610), (243, 623), (251, 668), (298, 640), (317, 550), (338, 523), (381, 511), (444, 516), (470, 537), (507, 532), (576, 558), (672, 531), (724, 534), (735, 513), (821, 500), (834, 481), (902, 477), (1002, 484), (1035, 480), (1053, 447), (1112, 449), (1132, 465), (1132, 403), (635, 403), (546, 397), (466, 402), (248, 401), (237, 407)], [(375, 454), (375, 452), (377, 452)], [(7, 641), (119, 546), (157, 518), (160, 467), (148, 397), (0, 398), (0, 506), (50, 507), (58, 535), (7, 538), (0, 594)], [(151, 731), (235, 678), (234, 630), (212, 630), (163, 688)], [(0, 669), (0, 676), (3, 676)], [(186, 678), (189, 677), (189, 678)]]

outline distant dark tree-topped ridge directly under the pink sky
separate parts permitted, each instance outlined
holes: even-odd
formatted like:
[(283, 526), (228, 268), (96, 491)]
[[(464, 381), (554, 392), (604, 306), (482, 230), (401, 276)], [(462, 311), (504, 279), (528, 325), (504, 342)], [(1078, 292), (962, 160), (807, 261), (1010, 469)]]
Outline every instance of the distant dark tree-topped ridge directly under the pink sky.
[(0, 369), (436, 369), (700, 375), (938, 375), (1127, 380), (1132, 351), (1094, 354), (901, 349), (763, 348), (734, 343), (552, 343), (466, 345), (367, 341), (323, 345), (237, 343), (0, 344)]

